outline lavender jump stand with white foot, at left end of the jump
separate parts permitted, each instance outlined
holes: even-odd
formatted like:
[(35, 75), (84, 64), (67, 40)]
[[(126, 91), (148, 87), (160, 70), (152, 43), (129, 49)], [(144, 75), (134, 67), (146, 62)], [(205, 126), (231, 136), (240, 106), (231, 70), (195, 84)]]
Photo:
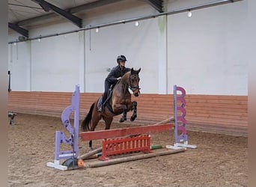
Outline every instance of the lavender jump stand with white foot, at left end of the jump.
[[(70, 138), (64, 135), (64, 132), (55, 132), (55, 159), (54, 162), (47, 162), (50, 168), (56, 168), (66, 171), (68, 168), (65, 165), (60, 165), (61, 159), (75, 160), (79, 156), (78, 138), (79, 138), (79, 85), (76, 85), (76, 90), (72, 94), (71, 105), (67, 106), (61, 114), (61, 121), (64, 127), (70, 132)], [(70, 123), (70, 114), (74, 112), (74, 125)], [(61, 151), (61, 144), (70, 144), (71, 150)]]

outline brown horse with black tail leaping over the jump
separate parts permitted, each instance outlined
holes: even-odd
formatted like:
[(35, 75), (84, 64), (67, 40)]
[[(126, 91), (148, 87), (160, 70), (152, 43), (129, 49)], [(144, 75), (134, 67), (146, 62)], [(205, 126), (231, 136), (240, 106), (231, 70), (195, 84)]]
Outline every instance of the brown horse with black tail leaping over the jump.
[[(94, 131), (99, 121), (103, 118), (105, 121), (105, 129), (110, 129), (112, 120), (114, 116), (123, 114), (119, 122), (124, 122), (127, 120), (127, 112), (133, 111), (130, 120), (133, 121), (137, 117), (137, 102), (131, 101), (131, 93), (129, 89), (133, 92), (134, 96), (139, 96), (140, 88), (138, 82), (140, 78), (138, 73), (141, 68), (134, 70), (133, 68), (124, 74), (120, 81), (115, 85), (112, 92), (106, 99), (106, 105), (104, 105), (103, 111), (97, 110), (97, 103), (100, 98), (95, 101), (90, 108), (85, 120), (82, 121), (83, 131)], [(89, 141), (89, 147), (92, 149), (92, 141)]]

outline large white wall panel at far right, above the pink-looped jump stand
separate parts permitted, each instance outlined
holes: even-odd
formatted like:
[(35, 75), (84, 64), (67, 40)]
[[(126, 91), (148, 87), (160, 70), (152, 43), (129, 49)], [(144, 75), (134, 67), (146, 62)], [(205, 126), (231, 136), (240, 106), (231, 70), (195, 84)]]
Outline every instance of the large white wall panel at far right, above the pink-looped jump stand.
[(168, 81), (192, 94), (247, 95), (246, 4), (168, 16)]

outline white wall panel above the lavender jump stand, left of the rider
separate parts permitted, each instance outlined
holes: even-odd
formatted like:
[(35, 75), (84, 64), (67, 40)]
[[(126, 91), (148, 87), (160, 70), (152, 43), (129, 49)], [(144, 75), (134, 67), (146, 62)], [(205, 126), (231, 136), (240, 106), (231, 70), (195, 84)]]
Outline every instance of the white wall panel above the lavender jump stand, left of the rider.
[(79, 84), (79, 42), (78, 33), (31, 41), (31, 91), (73, 91)]

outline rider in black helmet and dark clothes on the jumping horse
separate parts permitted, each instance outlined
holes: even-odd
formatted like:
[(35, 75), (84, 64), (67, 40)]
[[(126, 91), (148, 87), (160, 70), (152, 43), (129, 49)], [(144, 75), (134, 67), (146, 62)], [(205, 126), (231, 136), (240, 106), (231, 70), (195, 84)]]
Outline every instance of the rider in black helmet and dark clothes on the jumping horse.
[(99, 111), (103, 110), (103, 105), (105, 105), (106, 97), (109, 92), (109, 88), (111, 86), (115, 86), (115, 84), (118, 82), (119, 79), (121, 79), (122, 76), (124, 76), (124, 73), (129, 72), (131, 69), (125, 67), (125, 63), (127, 61), (127, 58), (124, 55), (119, 55), (117, 58), (118, 66), (113, 67), (110, 71), (109, 75), (105, 79), (105, 90), (103, 93), (102, 98), (102, 104), (100, 105), (100, 108), (98, 108)]

